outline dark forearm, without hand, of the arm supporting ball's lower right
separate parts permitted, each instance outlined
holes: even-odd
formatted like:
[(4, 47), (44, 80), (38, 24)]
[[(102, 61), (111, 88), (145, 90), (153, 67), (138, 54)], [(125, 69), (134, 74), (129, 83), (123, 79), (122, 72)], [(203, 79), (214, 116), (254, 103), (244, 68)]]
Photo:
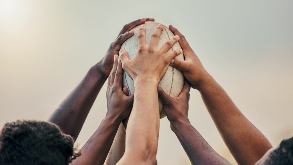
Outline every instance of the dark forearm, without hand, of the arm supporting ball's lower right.
[(172, 127), (191, 164), (230, 164), (212, 149), (189, 121), (172, 124)]

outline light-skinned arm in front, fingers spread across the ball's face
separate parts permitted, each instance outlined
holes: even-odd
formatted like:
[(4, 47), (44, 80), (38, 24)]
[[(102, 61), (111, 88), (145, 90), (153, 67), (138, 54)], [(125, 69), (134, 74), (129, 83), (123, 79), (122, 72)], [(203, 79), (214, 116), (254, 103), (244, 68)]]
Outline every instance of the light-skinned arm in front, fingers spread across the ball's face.
[(171, 60), (182, 53), (173, 50), (178, 42), (174, 36), (162, 47), (157, 47), (164, 26), (159, 24), (146, 44), (146, 28), (141, 25), (138, 32), (138, 51), (130, 60), (125, 50), (120, 51), (123, 69), (133, 79), (134, 103), (128, 120), (125, 153), (117, 164), (157, 164), (156, 154), (159, 137), (159, 102), (157, 85), (164, 77)]

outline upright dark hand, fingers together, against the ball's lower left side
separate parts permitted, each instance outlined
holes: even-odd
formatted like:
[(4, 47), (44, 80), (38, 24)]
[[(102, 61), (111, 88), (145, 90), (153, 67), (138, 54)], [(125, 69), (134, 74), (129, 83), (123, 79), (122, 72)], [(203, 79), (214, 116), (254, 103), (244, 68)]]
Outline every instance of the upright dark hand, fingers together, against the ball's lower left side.
[(120, 122), (129, 116), (134, 98), (134, 95), (127, 96), (126, 87), (122, 89), (122, 77), (121, 60), (114, 55), (114, 65), (108, 79), (106, 116), (117, 118)]

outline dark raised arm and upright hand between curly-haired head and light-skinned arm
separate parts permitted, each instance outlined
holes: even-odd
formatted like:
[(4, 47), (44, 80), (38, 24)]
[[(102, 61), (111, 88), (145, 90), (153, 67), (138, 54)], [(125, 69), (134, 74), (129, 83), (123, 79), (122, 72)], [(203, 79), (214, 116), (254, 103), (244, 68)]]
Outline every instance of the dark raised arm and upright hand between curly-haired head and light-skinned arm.
[[(74, 165), (104, 164), (118, 127), (122, 120), (129, 116), (133, 104), (134, 96), (127, 96), (126, 87), (122, 89), (122, 76), (122, 64), (118, 55), (115, 55), (113, 69), (108, 79), (106, 117), (81, 148), (79, 151), (81, 156), (73, 161)], [(122, 125), (121, 127), (123, 128)]]

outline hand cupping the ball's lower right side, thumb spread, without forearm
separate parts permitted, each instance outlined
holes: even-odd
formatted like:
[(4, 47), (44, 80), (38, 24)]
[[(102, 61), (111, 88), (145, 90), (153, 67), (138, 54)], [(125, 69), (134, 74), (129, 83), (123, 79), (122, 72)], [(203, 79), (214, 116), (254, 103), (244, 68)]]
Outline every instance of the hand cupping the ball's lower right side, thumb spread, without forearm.
[(158, 97), (162, 100), (165, 113), (170, 121), (170, 127), (172, 129), (172, 124), (176, 122), (189, 122), (188, 119), (188, 101), (189, 101), (189, 91), (190, 83), (185, 80), (182, 92), (178, 97), (171, 97), (166, 92), (158, 86)]

